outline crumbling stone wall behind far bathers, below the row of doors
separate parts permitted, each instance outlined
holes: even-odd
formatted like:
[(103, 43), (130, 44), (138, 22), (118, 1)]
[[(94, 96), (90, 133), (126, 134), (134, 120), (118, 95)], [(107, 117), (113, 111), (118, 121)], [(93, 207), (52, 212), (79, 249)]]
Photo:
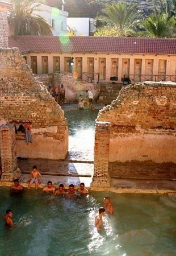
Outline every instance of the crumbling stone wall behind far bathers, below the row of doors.
[(85, 91), (91, 89), (94, 94), (94, 100), (98, 100), (100, 86), (97, 84), (78, 81), (72, 73), (56, 72), (53, 74), (35, 75), (36, 79), (43, 82), (46, 86), (53, 85), (55, 82), (64, 84), (65, 87), (65, 103), (77, 102), (79, 94), (86, 97)]

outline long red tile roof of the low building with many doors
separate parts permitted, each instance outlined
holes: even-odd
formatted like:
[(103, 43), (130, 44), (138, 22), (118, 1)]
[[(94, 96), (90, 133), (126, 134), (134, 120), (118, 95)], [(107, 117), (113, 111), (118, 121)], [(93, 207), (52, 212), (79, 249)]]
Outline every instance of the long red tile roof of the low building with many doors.
[(176, 54), (176, 39), (94, 36), (18, 36), (17, 40), (9, 39), (9, 47), (18, 45), (22, 53), (24, 47), (32, 52)]

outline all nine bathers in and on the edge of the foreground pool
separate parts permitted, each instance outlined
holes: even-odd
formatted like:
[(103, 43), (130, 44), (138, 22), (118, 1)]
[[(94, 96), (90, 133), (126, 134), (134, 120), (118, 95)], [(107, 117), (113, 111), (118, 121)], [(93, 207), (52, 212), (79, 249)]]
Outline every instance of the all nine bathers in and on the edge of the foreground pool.
[[(30, 180), (28, 184), (28, 189), (31, 188), (32, 184), (35, 183), (35, 188), (38, 189), (39, 184), (41, 183), (41, 174), (37, 170), (36, 166), (32, 167), (32, 171), (30, 173)], [(12, 192), (20, 193), (22, 192), (24, 187), (19, 184), (19, 180), (14, 180), (14, 185), (11, 187)], [(85, 184), (82, 182), (80, 184), (79, 189), (76, 189), (73, 184), (69, 185), (69, 188), (64, 188), (63, 184), (60, 184), (58, 189), (52, 184), (52, 181), (48, 181), (47, 186), (43, 188), (43, 191), (45, 193), (48, 193), (52, 196), (63, 196), (66, 199), (76, 199), (78, 195), (89, 195), (89, 190), (85, 188)], [(104, 197), (104, 207), (100, 207), (98, 210), (98, 214), (95, 216), (95, 228), (97, 230), (102, 230), (102, 224), (103, 224), (103, 216), (105, 213), (112, 215), (114, 214), (114, 206), (112, 205), (110, 201), (110, 197)], [(2, 218), (5, 220), (5, 226), (6, 227), (12, 227), (15, 226), (13, 220), (12, 220), (12, 210), (8, 209), (6, 210), (6, 214), (2, 216)]]

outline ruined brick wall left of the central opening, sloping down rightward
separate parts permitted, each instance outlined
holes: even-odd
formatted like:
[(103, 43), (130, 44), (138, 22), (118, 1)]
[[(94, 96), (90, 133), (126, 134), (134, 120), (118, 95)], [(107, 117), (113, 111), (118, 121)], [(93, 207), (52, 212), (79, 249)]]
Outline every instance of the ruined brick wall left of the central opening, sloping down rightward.
[(64, 159), (68, 152), (68, 126), (64, 112), (45, 85), (35, 79), (18, 48), (0, 52), (0, 123), (31, 122), (32, 143), (16, 135), (17, 155)]

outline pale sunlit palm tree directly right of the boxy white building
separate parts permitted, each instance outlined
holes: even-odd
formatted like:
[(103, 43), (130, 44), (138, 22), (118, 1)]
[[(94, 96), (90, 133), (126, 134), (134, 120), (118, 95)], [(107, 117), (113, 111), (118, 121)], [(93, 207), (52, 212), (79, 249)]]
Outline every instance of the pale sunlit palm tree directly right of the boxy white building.
[(118, 2), (107, 4), (98, 19), (105, 22), (110, 27), (115, 27), (119, 36), (131, 34), (135, 30), (137, 23), (140, 22), (140, 11), (137, 4)]

